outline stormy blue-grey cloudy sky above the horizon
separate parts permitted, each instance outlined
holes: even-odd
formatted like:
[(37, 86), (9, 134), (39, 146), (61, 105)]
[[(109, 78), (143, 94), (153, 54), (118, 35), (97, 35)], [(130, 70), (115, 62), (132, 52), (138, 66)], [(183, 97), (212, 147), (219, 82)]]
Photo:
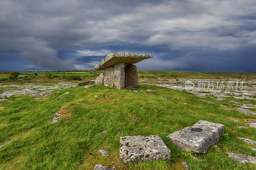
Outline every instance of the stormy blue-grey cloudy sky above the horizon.
[(0, 71), (93, 69), (112, 51), (138, 69), (256, 71), (255, 0), (0, 0)]

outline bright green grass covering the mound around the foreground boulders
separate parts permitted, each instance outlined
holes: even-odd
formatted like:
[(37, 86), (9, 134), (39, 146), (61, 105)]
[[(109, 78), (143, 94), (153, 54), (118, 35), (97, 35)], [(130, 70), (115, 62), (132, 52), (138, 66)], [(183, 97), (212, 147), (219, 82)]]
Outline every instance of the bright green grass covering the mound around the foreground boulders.
[[(202, 99), (213, 101), (210, 96), (189, 96), (188, 92), (150, 85), (140, 85), (138, 91), (140, 89), (152, 89), (157, 93), (135, 93), (96, 85), (90, 89), (83, 86), (63, 89), (44, 100), (18, 96), (10, 97), (12, 102), (1, 102), (0, 143), (10, 139), (12, 142), (0, 148), (0, 167), (91, 170), (100, 163), (115, 166), (116, 169), (183, 169), (183, 159), (192, 169), (244, 169), (244, 165), (228, 158), (225, 152), (256, 156), (255, 151), (248, 149), (252, 146), (237, 138), (241, 136), (256, 140), (256, 130), (236, 129), (234, 126), (243, 124), (228, 119), (234, 117), (243, 120), (255, 116), (200, 102)], [(60, 99), (59, 96), (65, 92), (70, 94)], [(109, 97), (106, 99), (105, 95)], [(168, 97), (170, 101), (161, 97)], [(214, 102), (221, 104), (225, 101)], [(49, 123), (58, 110), (64, 114), (63, 119)], [(166, 139), (174, 131), (199, 120), (224, 124), (227, 134), (220, 140), (222, 148), (212, 146), (206, 154), (196, 155), (202, 161), (192, 159), (188, 152), (177, 150)], [(36, 129), (32, 131), (34, 127)], [(106, 133), (98, 135), (103, 130)], [(120, 130), (122, 133), (116, 135)], [(134, 135), (158, 135), (171, 150), (171, 159), (124, 164), (119, 158), (119, 138)], [(108, 149), (110, 156), (101, 156), (99, 149)], [(247, 164), (245, 167), (255, 168), (255, 165), (250, 166)]]

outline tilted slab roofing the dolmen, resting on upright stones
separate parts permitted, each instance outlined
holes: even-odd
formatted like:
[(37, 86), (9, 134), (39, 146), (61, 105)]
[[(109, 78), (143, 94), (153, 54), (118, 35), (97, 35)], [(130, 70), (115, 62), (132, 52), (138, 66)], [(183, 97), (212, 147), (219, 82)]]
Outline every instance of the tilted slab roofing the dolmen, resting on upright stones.
[(101, 67), (103, 69), (108, 67), (114, 67), (115, 64), (123, 62), (126, 64), (134, 64), (141, 60), (152, 58), (153, 55), (149, 54), (138, 54), (138, 53), (127, 53), (127, 52), (112, 52), (108, 54), (105, 59), (101, 60)]

